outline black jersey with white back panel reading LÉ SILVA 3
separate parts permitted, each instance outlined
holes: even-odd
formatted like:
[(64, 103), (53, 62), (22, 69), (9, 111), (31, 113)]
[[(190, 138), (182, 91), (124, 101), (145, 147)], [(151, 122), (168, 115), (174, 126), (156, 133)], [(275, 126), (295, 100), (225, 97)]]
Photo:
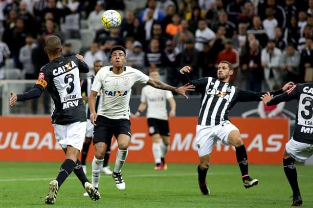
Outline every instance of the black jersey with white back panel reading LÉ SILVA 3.
[(53, 124), (67, 125), (87, 120), (79, 72), (89, 72), (89, 66), (75, 56), (61, 56), (40, 69), (35, 87), (46, 88), (51, 95)]

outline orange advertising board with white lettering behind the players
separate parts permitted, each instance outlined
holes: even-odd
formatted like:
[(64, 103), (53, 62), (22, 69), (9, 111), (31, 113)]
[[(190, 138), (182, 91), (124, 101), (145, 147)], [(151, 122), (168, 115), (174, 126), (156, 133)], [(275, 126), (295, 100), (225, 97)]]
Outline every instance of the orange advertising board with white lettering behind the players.
[[(195, 144), (196, 117), (171, 118), (169, 163), (198, 163)], [(241, 132), (250, 164), (281, 164), (289, 139), (289, 120), (282, 118), (231, 118)], [(144, 117), (131, 119), (132, 140), (127, 162), (154, 163), (152, 139)], [(115, 161), (116, 140), (112, 140), (110, 162)], [(90, 146), (87, 160), (94, 155)], [(0, 161), (63, 161), (64, 153), (54, 139), (49, 117), (0, 117)], [(218, 142), (211, 155), (212, 164), (236, 164), (232, 146)]]

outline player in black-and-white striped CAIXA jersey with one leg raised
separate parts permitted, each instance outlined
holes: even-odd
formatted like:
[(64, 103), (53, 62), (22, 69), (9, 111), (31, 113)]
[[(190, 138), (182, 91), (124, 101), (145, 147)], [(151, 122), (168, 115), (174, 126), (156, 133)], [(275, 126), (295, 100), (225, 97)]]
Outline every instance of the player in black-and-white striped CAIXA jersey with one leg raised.
[[(184, 66), (180, 69), (181, 74), (190, 71), (190, 66)], [(246, 91), (230, 85), (228, 82), (232, 74), (233, 65), (230, 62), (222, 61), (218, 65), (218, 79), (206, 77), (190, 81), (185, 75), (181, 77), (183, 84), (191, 83), (195, 86), (195, 90), (202, 94), (195, 140), (200, 157), (198, 166), (199, 187), (203, 195), (210, 194), (206, 187), (206, 173), (210, 165), (211, 152), (217, 139), (224, 145), (235, 147), (244, 187), (253, 187), (259, 182), (257, 179), (252, 179), (248, 174), (246, 147), (240, 137), (239, 129), (230, 123), (228, 112), (237, 102), (261, 101), (260, 97), (264, 92)], [(291, 82), (287, 83), (282, 89), (272, 91), (271, 94), (282, 94), (292, 85)]]

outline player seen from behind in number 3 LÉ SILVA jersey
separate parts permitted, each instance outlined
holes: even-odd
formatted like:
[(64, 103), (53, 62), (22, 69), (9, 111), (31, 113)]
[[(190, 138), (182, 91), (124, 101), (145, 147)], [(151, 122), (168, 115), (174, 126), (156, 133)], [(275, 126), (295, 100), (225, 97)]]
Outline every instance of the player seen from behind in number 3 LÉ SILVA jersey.
[(54, 204), (57, 193), (71, 172), (74, 172), (94, 201), (100, 199), (99, 192), (92, 187), (78, 160), (86, 133), (86, 113), (81, 96), (79, 72), (88, 73), (89, 67), (83, 56), (62, 56), (61, 40), (50, 36), (45, 40), (45, 52), (50, 60), (41, 69), (38, 80), (31, 90), (16, 95), (11, 92), (10, 106), (17, 101), (38, 98), (46, 89), (53, 100), (51, 122), (55, 138), (62, 146), (66, 159), (58, 176), (49, 183), (45, 204)]

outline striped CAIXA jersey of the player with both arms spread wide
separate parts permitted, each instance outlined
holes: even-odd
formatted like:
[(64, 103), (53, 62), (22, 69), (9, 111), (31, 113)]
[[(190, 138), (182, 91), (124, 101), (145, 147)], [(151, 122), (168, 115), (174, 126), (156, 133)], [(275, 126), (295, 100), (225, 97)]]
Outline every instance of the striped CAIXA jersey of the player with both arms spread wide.
[[(198, 125), (219, 125), (229, 120), (228, 112), (237, 102), (261, 101), (260, 97), (265, 94), (242, 90), (212, 77), (189, 81), (182, 76), (181, 81), (183, 84), (193, 84), (195, 90), (202, 94)], [(271, 92), (273, 95), (281, 93), (281, 89)]]

